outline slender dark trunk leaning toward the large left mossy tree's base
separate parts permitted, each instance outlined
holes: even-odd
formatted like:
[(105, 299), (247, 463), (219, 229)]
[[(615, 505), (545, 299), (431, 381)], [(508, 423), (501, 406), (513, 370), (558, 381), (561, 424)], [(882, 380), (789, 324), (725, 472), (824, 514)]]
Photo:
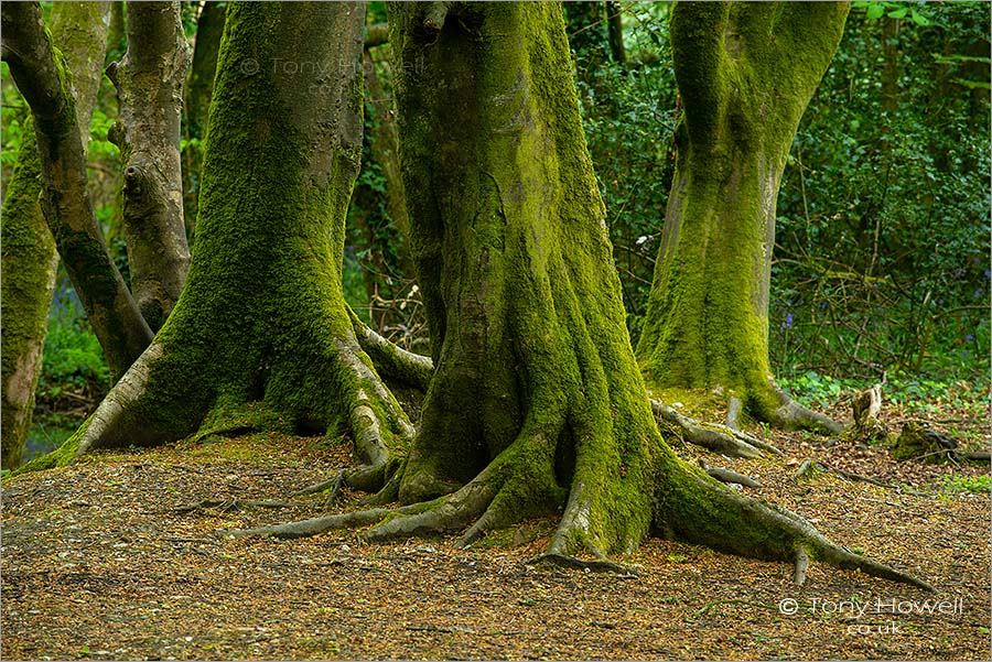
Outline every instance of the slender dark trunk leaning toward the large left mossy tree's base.
[(114, 265), (94, 216), (76, 102), (41, 10), (36, 2), (10, 2), (2, 19), (3, 58), (34, 121), (45, 220), (116, 379), (151, 343), (152, 333)]

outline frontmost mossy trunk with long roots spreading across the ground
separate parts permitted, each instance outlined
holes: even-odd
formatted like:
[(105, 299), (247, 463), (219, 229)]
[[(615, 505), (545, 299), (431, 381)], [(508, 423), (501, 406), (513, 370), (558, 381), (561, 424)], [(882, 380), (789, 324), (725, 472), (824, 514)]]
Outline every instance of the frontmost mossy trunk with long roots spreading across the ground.
[(466, 529), (460, 544), (562, 512), (546, 558), (633, 550), (653, 532), (921, 583), (850, 554), (796, 514), (679, 460), (651, 417), (624, 324), (561, 8), (396, 3), (400, 155), (434, 376), (395, 509), (250, 532), (377, 524), (381, 540)]

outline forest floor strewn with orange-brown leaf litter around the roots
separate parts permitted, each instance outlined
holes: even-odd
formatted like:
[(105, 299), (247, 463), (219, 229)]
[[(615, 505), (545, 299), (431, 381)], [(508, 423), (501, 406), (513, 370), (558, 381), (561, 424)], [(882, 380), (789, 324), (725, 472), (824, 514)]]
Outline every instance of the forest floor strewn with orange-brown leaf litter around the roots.
[[(986, 415), (971, 415), (885, 419), (897, 430), (929, 417), (986, 448)], [(660, 540), (617, 560), (636, 578), (535, 567), (554, 525), (544, 520), (467, 550), (453, 538), (369, 545), (354, 532), (229, 539), (223, 531), (325, 512), (316, 498), (257, 501), (291, 500), (347, 462), (344, 445), (257, 434), (4, 480), (0, 656), (989, 659), (989, 495), (970, 491), (988, 466), (895, 463), (881, 447), (751, 432), (785, 457), (678, 451), (758, 479), (750, 493), (937, 593), (816, 563), (797, 588), (789, 565)], [(822, 471), (795, 480), (806, 458), (892, 487)], [(355, 507), (346, 496), (335, 510)]]

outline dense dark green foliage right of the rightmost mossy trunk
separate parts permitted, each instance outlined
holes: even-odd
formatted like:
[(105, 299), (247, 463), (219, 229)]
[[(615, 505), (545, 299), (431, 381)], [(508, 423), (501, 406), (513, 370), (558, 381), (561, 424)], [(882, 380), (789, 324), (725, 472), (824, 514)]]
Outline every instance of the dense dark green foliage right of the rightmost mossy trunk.
[(859, 8), (783, 181), (773, 363), (988, 375), (988, 6)]

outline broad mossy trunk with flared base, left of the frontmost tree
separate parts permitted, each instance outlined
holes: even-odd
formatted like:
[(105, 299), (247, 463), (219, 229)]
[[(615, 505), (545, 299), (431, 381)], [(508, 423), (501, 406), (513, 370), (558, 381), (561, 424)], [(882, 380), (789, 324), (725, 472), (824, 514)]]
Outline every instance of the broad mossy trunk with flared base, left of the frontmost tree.
[(356, 3), (229, 6), (186, 287), (144, 355), (36, 467), (201, 426), (347, 431), (380, 481), (396, 464), (390, 447), (412, 430), (341, 291), (363, 22)]

